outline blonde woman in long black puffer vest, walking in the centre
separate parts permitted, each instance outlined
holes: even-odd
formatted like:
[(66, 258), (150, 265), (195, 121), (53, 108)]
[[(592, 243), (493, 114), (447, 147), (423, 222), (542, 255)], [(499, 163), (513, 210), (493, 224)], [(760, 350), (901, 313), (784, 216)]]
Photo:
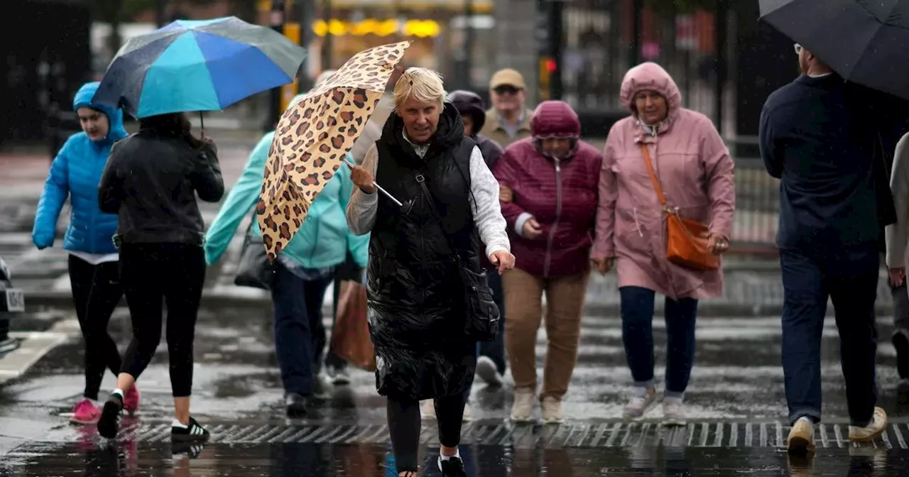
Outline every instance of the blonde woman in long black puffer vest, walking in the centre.
[[(435, 399), (439, 469), (464, 477), (458, 444), (476, 342), (464, 332), (464, 295), (452, 291), (464, 289), (460, 267), (480, 271), (477, 233), (498, 273), (514, 267), (498, 183), (445, 96), (435, 71), (412, 67), (401, 75), (395, 114), (351, 173), (357, 188), (347, 206), (351, 230), (372, 233), (367, 281), (376, 388), (387, 397), (395, 463), (405, 477), (417, 474), (424, 399)], [(377, 194), (375, 184), (402, 205)]]

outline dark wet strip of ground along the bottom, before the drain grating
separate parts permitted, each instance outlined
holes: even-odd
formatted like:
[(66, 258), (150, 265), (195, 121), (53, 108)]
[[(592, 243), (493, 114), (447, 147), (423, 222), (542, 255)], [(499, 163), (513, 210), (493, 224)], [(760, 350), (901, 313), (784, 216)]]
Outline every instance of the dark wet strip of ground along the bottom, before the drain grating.
[[(437, 476), (437, 448), (421, 452), (421, 476)], [(824, 450), (792, 460), (775, 449), (514, 450), (464, 445), (470, 477), (609, 476), (894, 476), (909, 465), (909, 452), (881, 449)], [(375, 444), (219, 444), (173, 448), (168, 443), (34, 443), (7, 454), (0, 474), (9, 476), (320, 476), (395, 477), (389, 449)]]

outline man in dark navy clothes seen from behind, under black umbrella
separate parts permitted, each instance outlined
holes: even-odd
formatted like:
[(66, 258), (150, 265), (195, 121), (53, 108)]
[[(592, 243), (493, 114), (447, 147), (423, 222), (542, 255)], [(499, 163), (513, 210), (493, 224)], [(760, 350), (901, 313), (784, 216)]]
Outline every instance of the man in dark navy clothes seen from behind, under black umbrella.
[(886, 428), (877, 407), (874, 301), (880, 229), (894, 222), (879, 129), (892, 116), (874, 92), (847, 83), (803, 45), (802, 75), (771, 94), (761, 113), (767, 172), (781, 179), (776, 245), (783, 273), (783, 370), (789, 452), (814, 449), (821, 420), (821, 338), (833, 301), (849, 407), (849, 440)]

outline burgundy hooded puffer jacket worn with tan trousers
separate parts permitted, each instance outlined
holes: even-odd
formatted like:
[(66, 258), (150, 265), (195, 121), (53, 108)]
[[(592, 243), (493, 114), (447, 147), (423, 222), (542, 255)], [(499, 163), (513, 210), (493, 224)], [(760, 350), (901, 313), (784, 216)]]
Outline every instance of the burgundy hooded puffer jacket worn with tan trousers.
[[(533, 137), (509, 145), (494, 175), (509, 187), (514, 199), (502, 204), (508, 222), (515, 266), (538, 276), (581, 273), (590, 261), (600, 165), (603, 155), (594, 146), (577, 140), (574, 153), (555, 160), (542, 154), (536, 138), (577, 137), (580, 122), (571, 106), (546, 101), (534, 112)], [(515, 230), (515, 222), (529, 214), (543, 234), (534, 240)]]

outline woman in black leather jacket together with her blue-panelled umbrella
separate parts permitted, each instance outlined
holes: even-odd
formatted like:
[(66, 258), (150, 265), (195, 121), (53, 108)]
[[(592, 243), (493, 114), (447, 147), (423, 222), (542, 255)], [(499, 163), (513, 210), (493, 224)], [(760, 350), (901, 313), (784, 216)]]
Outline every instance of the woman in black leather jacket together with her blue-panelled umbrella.
[(195, 321), (205, 284), (205, 224), (196, 195), (218, 202), (225, 186), (215, 143), (197, 139), (185, 112), (216, 111), (291, 83), (305, 50), (269, 28), (235, 17), (178, 20), (130, 38), (108, 66), (94, 101), (122, 105), (139, 133), (115, 144), (98, 189), (101, 210), (118, 214), (120, 273), (133, 340), (98, 421), (115, 438), (129, 389), (161, 341), (167, 347), (175, 420), (172, 442), (205, 441), (190, 415)]

